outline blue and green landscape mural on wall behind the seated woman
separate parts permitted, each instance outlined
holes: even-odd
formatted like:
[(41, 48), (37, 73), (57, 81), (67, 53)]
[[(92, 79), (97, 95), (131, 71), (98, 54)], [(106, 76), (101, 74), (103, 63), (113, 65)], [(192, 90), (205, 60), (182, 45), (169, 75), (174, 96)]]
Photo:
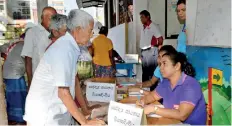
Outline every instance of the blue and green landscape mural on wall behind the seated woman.
[(196, 69), (206, 102), (208, 102), (208, 68), (216, 68), (223, 76), (215, 74), (212, 85), (213, 125), (231, 124), (231, 48), (188, 46), (187, 56)]

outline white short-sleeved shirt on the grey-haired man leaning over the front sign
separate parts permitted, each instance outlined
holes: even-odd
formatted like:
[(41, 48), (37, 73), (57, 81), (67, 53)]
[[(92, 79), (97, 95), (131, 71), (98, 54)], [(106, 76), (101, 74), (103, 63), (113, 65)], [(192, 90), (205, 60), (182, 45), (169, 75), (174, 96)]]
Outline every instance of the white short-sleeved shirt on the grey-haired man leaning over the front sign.
[(58, 97), (58, 87), (69, 87), (75, 96), (76, 63), (80, 49), (67, 32), (44, 54), (27, 95), (24, 119), (31, 125), (69, 125), (67, 108)]

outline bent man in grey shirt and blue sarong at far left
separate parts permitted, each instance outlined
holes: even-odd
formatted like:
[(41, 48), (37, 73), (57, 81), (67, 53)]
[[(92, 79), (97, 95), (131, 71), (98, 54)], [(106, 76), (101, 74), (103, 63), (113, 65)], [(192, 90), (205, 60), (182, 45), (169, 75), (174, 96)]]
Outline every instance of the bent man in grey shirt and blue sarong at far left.
[[(8, 124), (26, 124), (23, 120), (25, 100), (27, 96), (27, 85), (24, 79), (25, 63), (20, 56), (23, 48), (23, 39), (14, 40), (6, 49), (6, 60), (3, 64), (3, 79), (6, 85), (6, 103)], [(5, 45), (3, 45), (4, 48)], [(0, 46), (0, 50), (2, 46)], [(4, 49), (3, 49), (4, 50)]]

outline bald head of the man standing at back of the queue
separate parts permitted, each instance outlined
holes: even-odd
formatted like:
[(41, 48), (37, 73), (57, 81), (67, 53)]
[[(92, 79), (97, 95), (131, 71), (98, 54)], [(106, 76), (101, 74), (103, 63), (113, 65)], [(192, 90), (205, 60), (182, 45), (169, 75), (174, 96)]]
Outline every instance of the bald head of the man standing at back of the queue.
[(44, 26), (45, 29), (49, 28), (51, 17), (55, 14), (57, 14), (57, 12), (53, 7), (45, 7), (43, 9), (41, 19), (42, 19), (42, 25)]

